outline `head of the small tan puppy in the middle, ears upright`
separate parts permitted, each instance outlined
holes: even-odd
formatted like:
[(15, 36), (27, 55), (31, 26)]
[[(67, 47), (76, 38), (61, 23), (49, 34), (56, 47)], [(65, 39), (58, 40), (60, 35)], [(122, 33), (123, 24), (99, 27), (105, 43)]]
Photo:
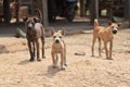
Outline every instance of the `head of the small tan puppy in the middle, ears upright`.
[(63, 41), (63, 36), (65, 35), (65, 28), (55, 32), (54, 28), (51, 29), (51, 35), (53, 36), (54, 44), (61, 44)]

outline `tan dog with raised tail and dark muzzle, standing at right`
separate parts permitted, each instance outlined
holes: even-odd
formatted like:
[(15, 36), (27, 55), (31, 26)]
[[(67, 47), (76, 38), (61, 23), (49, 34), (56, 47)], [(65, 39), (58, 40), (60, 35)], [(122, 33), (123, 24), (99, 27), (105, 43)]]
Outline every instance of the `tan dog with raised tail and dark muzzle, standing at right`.
[[(94, 57), (94, 44), (96, 38), (99, 39), (99, 55), (101, 57), (101, 40), (104, 41), (104, 49), (106, 53), (106, 59), (112, 60), (112, 49), (113, 49), (113, 39), (114, 34), (117, 34), (120, 23), (108, 23), (107, 27), (100, 26), (99, 21), (94, 20), (94, 30), (93, 30), (93, 40), (92, 40), (92, 57)], [(107, 44), (109, 42), (109, 52), (107, 49)]]

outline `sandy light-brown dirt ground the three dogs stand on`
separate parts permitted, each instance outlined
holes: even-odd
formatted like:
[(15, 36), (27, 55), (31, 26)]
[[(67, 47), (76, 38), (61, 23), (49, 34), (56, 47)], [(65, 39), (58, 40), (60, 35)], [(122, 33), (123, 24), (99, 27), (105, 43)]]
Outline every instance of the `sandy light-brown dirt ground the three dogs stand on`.
[(0, 87), (130, 87), (130, 28), (115, 35), (114, 60), (106, 60), (104, 50), (98, 57), (98, 42), (95, 57), (91, 57), (91, 33), (64, 39), (68, 66), (61, 71), (52, 69), (51, 37), (46, 39), (46, 59), (41, 62), (28, 61), (26, 39), (0, 37)]

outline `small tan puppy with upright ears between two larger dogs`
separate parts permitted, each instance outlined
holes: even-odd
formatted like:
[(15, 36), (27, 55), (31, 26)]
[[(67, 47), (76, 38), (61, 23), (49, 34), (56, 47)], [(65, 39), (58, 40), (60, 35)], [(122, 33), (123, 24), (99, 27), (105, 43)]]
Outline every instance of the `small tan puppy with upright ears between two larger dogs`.
[(52, 44), (52, 62), (53, 67), (57, 66), (58, 57), (61, 54), (61, 70), (65, 70), (66, 64), (66, 45), (63, 40), (63, 36), (65, 35), (65, 28), (62, 28), (58, 32), (55, 32), (54, 28), (51, 29), (51, 35), (53, 36), (53, 44)]

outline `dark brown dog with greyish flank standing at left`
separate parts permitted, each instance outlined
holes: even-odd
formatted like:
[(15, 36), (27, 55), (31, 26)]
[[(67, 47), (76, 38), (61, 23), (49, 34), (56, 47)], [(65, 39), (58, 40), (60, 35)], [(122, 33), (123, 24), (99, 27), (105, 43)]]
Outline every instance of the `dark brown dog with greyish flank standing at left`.
[[(36, 10), (37, 13), (41, 16), (40, 10)], [(37, 50), (37, 61), (41, 61), (40, 59), (40, 47), (39, 47), (39, 38), (41, 39), (42, 45), (42, 58), (44, 57), (44, 27), (41, 24), (41, 17), (37, 16), (25, 17), (25, 28), (26, 28), (26, 38), (28, 44), (28, 49), (30, 53), (30, 60), (35, 60), (35, 52)]]

